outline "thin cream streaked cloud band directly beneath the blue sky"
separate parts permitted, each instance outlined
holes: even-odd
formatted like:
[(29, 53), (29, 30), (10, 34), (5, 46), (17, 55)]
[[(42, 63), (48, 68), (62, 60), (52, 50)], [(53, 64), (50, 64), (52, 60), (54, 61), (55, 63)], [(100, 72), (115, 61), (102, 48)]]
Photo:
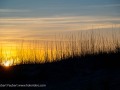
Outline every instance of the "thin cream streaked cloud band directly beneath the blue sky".
[[(92, 24), (120, 22), (119, 17), (66, 16), (49, 18), (0, 18), (0, 25)], [(113, 23), (114, 24), (114, 23)], [(50, 26), (49, 26), (50, 27)]]

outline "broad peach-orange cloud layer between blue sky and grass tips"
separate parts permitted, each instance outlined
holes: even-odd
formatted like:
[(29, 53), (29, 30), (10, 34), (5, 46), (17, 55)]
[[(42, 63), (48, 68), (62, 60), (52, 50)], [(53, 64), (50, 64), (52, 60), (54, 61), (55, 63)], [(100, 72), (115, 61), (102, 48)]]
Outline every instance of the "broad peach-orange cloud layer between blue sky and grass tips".
[[(118, 22), (117, 24), (115, 22)], [(0, 18), (0, 34), (18, 38), (38, 38), (41, 35), (91, 29), (120, 27), (119, 17), (64, 16), (46, 18)], [(43, 36), (41, 36), (43, 37)], [(49, 36), (48, 36), (49, 37)]]

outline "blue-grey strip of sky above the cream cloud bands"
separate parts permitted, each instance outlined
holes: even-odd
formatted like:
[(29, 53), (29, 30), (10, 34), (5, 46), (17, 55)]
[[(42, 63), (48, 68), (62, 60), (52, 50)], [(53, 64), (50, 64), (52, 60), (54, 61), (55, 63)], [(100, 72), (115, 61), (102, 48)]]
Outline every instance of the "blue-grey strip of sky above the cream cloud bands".
[(0, 0), (0, 17), (120, 16), (120, 0)]

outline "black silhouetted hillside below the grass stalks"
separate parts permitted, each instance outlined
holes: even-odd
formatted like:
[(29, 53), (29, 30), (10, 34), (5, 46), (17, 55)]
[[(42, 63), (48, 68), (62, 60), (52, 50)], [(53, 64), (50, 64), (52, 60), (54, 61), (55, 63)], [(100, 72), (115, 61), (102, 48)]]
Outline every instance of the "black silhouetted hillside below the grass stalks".
[(54, 63), (0, 67), (0, 84), (46, 84), (43, 90), (120, 90), (120, 52)]

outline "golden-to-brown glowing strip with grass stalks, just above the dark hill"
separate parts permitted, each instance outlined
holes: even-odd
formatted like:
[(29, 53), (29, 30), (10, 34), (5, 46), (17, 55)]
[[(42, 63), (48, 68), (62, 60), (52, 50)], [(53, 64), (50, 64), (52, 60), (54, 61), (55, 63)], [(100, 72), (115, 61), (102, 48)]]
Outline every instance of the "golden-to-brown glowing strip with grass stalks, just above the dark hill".
[[(107, 34), (107, 36), (106, 36)], [(120, 46), (120, 30), (92, 30), (54, 36), (51, 40), (1, 40), (3, 66), (46, 63), (82, 55), (114, 51)]]

